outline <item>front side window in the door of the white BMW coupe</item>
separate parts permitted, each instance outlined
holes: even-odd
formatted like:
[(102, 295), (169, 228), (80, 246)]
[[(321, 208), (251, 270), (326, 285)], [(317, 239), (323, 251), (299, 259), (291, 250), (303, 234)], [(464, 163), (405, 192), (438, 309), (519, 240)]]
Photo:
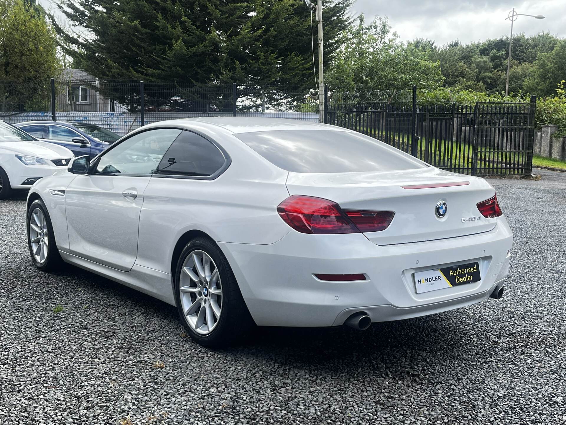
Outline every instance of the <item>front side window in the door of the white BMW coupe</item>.
[(152, 174), (181, 131), (155, 129), (136, 133), (104, 152), (96, 173)]

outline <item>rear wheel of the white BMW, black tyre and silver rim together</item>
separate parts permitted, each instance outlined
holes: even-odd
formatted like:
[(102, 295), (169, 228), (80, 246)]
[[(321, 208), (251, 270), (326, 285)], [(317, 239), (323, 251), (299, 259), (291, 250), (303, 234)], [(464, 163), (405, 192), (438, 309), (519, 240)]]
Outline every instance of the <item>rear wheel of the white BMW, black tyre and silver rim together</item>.
[(207, 237), (191, 240), (181, 252), (175, 287), (181, 321), (201, 345), (226, 347), (253, 325), (228, 260)]

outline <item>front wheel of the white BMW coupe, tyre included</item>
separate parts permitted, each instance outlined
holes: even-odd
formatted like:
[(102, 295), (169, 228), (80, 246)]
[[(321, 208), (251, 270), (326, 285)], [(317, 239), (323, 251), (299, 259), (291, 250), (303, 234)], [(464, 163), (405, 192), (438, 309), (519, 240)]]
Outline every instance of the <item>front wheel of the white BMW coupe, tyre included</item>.
[(42, 271), (59, 268), (63, 261), (57, 245), (49, 213), (41, 201), (36, 199), (28, 209), (28, 247), (33, 264)]

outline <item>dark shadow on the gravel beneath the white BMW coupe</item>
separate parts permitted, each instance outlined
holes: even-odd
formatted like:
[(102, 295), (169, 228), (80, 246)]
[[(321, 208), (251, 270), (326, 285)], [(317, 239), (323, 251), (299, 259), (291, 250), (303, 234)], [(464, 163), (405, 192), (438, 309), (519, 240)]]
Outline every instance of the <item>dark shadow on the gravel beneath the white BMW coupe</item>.
[[(190, 338), (181, 336), (183, 327), (175, 307), (77, 267), (70, 266), (67, 271), (56, 275), (60, 281), (75, 286), (77, 291), (91, 294), (95, 292), (102, 298), (111, 299), (112, 303), (127, 305), (130, 311), (151, 315), (150, 322), (158, 323), (162, 332), (175, 329), (174, 332), (178, 331), (179, 335), (178, 343), (181, 346), (186, 345), (186, 351), (203, 350)], [(281, 367), (295, 369), (318, 369), (331, 375), (334, 371), (344, 370), (344, 367), (351, 368), (353, 373), (372, 369), (387, 371), (389, 375), (421, 375), (424, 373), (422, 369), (411, 372), (414, 363), (422, 365), (423, 359), (426, 358), (457, 358), (462, 353), (469, 354), (469, 341), (462, 339), (470, 332), (473, 333), (474, 322), (475, 316), (464, 308), (432, 316), (374, 323), (366, 331), (350, 329), (347, 326), (258, 327), (252, 330), (242, 345), (224, 350), (210, 350), (210, 354), (234, 359), (243, 358), (248, 362), (276, 362)], [(478, 356), (487, 350), (489, 341), (484, 341), (483, 345), (476, 344), (473, 348)]]

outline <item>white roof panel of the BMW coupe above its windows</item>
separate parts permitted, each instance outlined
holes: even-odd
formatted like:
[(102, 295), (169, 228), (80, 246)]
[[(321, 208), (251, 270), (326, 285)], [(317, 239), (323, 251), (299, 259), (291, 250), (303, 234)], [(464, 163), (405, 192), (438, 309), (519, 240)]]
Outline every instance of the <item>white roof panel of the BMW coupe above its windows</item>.
[[(330, 131), (348, 131), (344, 128), (336, 127), (328, 124), (321, 124), (315, 121), (290, 120), (286, 118), (263, 118), (263, 117), (199, 117), (199, 118), (181, 118), (185, 121), (199, 122), (201, 124), (212, 124), (219, 126), (230, 133), (252, 133), (254, 131), (272, 131), (272, 130), (330, 130)], [(155, 124), (158, 124), (157, 122)], [(179, 122), (181, 124), (181, 122)]]

